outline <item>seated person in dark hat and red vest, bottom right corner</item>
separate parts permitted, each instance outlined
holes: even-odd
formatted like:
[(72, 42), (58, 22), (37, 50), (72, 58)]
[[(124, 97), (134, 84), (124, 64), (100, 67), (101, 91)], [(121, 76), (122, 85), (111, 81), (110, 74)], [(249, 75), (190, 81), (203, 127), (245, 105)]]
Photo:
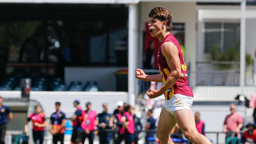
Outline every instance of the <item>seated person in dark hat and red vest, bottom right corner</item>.
[(246, 125), (247, 130), (244, 131), (245, 144), (252, 144), (256, 142), (255, 124), (250, 122)]

